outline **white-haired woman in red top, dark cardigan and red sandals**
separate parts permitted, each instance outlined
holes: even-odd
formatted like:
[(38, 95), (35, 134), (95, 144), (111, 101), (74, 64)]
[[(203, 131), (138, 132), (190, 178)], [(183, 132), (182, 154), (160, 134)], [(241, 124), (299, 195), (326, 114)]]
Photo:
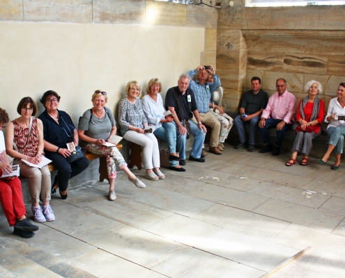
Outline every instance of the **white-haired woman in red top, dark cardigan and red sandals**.
[(312, 150), (312, 140), (321, 134), (321, 124), (325, 115), (325, 104), (317, 94), (322, 93), (322, 85), (318, 81), (308, 81), (305, 90), (309, 95), (298, 104), (296, 123), (296, 139), (293, 143), (292, 155), (286, 166), (296, 163), (298, 152), (303, 155), (301, 165), (308, 165), (309, 152)]

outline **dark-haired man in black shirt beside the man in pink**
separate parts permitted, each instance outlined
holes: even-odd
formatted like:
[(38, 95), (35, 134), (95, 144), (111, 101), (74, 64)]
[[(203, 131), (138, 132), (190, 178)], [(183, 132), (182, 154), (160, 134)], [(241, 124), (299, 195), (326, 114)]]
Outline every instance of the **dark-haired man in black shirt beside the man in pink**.
[(247, 147), (244, 125), (250, 124), (248, 152), (254, 152), (255, 136), (258, 131), (260, 116), (268, 102), (268, 93), (261, 90), (261, 79), (254, 76), (252, 77), (251, 83), (252, 90), (245, 92), (243, 96), (240, 115), (233, 120), (238, 131), (238, 137), (240, 138), (240, 144), (236, 145), (235, 149)]

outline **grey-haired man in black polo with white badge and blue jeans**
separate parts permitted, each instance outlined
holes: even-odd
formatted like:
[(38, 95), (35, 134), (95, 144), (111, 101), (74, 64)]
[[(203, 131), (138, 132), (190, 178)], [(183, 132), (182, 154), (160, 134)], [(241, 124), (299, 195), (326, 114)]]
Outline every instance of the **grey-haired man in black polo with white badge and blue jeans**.
[[(185, 165), (185, 140), (187, 129), (182, 125), (182, 120), (190, 123), (190, 133), (194, 135), (192, 152), (190, 153), (190, 161), (204, 162), (201, 158), (201, 149), (204, 144), (206, 127), (201, 124), (197, 103), (195, 102), (193, 91), (188, 88), (190, 85), (190, 76), (182, 74), (178, 79), (178, 86), (170, 88), (165, 96), (165, 106), (174, 115), (174, 124), (176, 124), (176, 133), (181, 134), (181, 139), (176, 141), (176, 147), (180, 152), (180, 165)], [(181, 109), (180, 109), (181, 107)], [(195, 124), (190, 120), (192, 114), (197, 120)]]

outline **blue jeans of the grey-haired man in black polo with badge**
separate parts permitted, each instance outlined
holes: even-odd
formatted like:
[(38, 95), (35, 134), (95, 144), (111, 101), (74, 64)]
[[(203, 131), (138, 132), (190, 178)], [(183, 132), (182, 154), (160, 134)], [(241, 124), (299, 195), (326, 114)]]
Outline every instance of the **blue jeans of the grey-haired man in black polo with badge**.
[[(190, 153), (190, 156), (193, 156), (194, 158), (200, 158), (202, 145), (204, 144), (206, 133), (204, 133), (204, 131), (200, 129), (199, 126), (195, 122), (192, 122), (192, 120), (188, 120), (188, 122), (190, 122), (190, 132), (194, 135), (194, 142), (193, 142), (192, 152)], [(177, 132), (178, 137), (180, 137), (180, 138), (177, 137), (177, 140), (176, 140), (178, 152), (180, 152), (180, 157), (183, 160), (185, 160), (185, 142), (187, 140), (187, 134), (182, 136), (180, 131), (178, 131), (177, 127), (176, 127), (176, 132)]]

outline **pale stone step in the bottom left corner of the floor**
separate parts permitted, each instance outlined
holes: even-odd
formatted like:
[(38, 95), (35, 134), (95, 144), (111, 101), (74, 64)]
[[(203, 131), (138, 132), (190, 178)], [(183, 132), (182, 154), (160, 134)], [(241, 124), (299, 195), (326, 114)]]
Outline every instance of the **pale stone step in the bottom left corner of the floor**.
[(95, 277), (37, 247), (12, 238), (0, 237), (0, 258), (0, 277)]

